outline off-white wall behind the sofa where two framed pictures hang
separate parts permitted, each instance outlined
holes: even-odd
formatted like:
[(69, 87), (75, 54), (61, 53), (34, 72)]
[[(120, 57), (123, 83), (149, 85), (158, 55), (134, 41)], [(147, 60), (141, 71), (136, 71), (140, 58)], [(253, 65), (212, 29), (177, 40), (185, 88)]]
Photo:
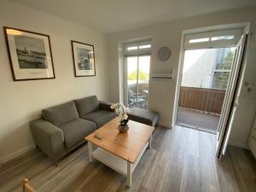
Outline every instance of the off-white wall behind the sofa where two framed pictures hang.
[[(3, 26), (48, 34), (56, 79), (14, 82)], [(96, 95), (108, 100), (106, 37), (53, 15), (20, 4), (0, 3), (0, 162), (33, 147), (29, 121), (43, 108), (75, 98)], [(70, 40), (95, 45), (96, 77), (74, 78)]]

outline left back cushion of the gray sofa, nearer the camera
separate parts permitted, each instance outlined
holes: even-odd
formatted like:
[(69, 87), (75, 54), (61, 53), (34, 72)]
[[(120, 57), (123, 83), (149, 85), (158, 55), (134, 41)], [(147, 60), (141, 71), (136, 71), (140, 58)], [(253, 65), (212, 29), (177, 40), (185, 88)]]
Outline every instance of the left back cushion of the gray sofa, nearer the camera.
[(66, 102), (52, 108), (42, 110), (43, 117), (56, 126), (61, 126), (79, 118), (79, 113), (74, 102)]

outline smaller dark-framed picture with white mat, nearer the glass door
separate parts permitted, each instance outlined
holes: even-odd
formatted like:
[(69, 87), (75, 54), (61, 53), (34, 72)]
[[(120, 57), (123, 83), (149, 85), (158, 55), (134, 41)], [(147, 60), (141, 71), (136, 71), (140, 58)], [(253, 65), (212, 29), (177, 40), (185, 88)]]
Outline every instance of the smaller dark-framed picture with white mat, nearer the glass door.
[(75, 77), (96, 75), (94, 46), (71, 41)]

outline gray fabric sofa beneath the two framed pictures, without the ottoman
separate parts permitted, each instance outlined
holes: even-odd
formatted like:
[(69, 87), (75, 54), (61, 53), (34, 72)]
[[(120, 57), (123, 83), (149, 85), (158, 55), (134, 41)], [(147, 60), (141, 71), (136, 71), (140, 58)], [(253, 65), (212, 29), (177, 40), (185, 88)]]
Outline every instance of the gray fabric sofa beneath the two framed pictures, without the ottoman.
[(89, 96), (42, 110), (31, 122), (34, 142), (57, 165), (65, 154), (84, 143), (84, 137), (115, 117), (111, 103)]

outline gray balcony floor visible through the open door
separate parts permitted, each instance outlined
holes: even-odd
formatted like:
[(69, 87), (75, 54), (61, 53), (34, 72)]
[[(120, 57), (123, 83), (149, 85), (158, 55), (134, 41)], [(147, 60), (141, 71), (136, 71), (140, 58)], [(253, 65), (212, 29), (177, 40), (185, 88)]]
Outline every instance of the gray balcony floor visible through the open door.
[(177, 109), (177, 123), (191, 125), (207, 131), (216, 132), (219, 116), (212, 113), (202, 113), (188, 108)]

